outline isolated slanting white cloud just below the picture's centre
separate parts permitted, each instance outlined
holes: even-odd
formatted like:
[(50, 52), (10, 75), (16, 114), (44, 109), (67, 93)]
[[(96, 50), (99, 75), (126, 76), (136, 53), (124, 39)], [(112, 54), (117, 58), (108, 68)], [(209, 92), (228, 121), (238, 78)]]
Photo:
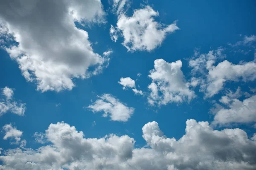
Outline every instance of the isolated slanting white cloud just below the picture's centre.
[(87, 108), (92, 109), (93, 112), (103, 111), (103, 117), (110, 116), (113, 121), (127, 122), (134, 113), (134, 108), (129, 108), (125, 103), (120, 102), (111, 94), (103, 94), (97, 97), (99, 99)]

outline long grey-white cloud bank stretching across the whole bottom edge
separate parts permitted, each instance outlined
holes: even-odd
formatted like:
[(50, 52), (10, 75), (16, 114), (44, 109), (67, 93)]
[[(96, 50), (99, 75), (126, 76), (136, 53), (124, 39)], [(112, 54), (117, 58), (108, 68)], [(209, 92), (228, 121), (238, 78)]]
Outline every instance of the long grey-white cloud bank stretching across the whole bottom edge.
[(103, 169), (103, 170), (253, 170), (256, 168), (256, 141), (241, 129), (213, 130), (208, 122), (186, 121), (182, 138), (167, 138), (157, 122), (143, 127), (149, 148), (134, 148), (127, 135), (110, 134), (100, 139), (64, 122), (49, 125), (49, 145), (32, 149), (10, 149), (0, 156), (4, 170)]

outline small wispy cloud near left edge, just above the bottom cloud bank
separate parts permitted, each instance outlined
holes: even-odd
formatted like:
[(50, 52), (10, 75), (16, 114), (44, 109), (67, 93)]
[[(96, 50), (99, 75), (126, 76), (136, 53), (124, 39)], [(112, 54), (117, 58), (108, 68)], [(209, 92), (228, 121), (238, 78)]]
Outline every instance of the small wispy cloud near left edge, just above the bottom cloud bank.
[(22, 136), (22, 133), (23, 133), (22, 131), (17, 130), (16, 127), (12, 126), (12, 124), (4, 125), (3, 130), (5, 131), (5, 136), (3, 136), (4, 140), (14, 139), (15, 144), (18, 144), (20, 142), (20, 136)]

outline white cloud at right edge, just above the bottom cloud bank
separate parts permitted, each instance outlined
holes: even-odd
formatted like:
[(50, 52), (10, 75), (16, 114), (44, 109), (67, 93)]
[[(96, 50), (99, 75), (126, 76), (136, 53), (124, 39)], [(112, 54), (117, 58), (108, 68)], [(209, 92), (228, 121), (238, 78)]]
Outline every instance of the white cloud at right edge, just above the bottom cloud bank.
[(256, 122), (255, 95), (248, 99), (244, 99), (243, 101), (240, 101), (239, 99), (233, 99), (228, 107), (229, 108), (221, 108), (216, 113), (212, 124), (227, 125), (231, 123)]

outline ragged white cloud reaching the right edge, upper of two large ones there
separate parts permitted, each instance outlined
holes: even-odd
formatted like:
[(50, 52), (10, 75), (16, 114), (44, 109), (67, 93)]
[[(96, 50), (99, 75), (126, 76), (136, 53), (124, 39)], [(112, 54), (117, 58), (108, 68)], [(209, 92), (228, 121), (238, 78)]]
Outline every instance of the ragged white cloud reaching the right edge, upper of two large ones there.
[(208, 54), (196, 54), (189, 60), (192, 74), (198, 76), (201, 91), (206, 97), (218, 94), (225, 85), (225, 82), (248, 82), (256, 79), (256, 63), (240, 62), (233, 64), (227, 60), (214, 65), (218, 59), (225, 57), (222, 54), (223, 48), (216, 51), (209, 51)]

